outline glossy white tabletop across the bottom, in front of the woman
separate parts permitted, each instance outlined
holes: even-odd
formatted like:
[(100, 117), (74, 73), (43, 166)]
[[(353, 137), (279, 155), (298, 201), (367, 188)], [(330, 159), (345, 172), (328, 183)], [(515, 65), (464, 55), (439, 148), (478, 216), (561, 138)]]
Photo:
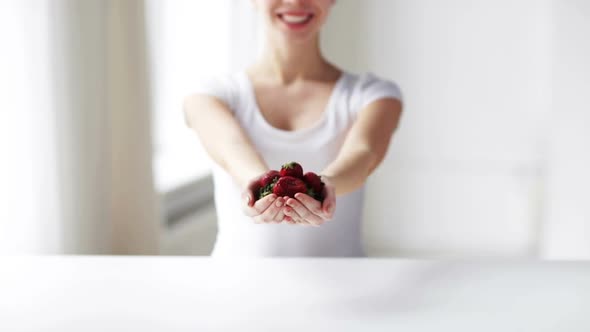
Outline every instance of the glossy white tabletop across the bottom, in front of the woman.
[(590, 331), (590, 263), (0, 258), (0, 331)]

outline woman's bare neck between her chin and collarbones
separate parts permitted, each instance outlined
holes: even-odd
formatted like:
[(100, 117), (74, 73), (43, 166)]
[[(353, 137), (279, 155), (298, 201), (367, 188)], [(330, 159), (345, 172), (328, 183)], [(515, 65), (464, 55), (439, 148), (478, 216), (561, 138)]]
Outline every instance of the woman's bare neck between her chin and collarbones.
[(331, 69), (321, 53), (317, 36), (298, 44), (267, 38), (262, 54), (258, 69), (282, 84), (299, 79), (316, 79)]

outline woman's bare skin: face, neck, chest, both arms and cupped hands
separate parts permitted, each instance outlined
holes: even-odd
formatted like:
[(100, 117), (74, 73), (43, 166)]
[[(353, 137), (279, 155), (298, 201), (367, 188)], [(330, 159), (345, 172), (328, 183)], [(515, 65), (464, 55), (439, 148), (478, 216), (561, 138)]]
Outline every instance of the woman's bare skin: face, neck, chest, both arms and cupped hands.
[[(252, 0), (252, 4), (266, 33), (261, 57), (246, 70), (259, 109), (279, 129), (312, 126), (342, 74), (319, 47), (320, 30), (334, 1)], [(313, 18), (303, 29), (290, 29), (281, 18), (287, 13)], [(255, 202), (258, 180), (270, 168), (228, 107), (214, 97), (195, 94), (185, 99), (184, 110), (187, 125), (205, 150), (243, 188), (242, 211), (254, 223), (319, 227), (333, 218), (336, 197), (360, 188), (382, 162), (402, 105), (396, 99), (380, 99), (360, 111), (337, 158), (320, 173), (325, 183), (323, 204), (305, 194), (269, 195)], [(217, 135), (220, 131), (224, 135)]]

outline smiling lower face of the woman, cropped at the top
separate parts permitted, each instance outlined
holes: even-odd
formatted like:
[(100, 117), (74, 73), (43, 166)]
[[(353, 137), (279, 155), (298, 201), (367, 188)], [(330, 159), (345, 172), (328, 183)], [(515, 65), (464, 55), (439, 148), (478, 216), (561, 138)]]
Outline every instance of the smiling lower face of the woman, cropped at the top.
[(267, 31), (291, 41), (307, 41), (326, 22), (334, 0), (253, 0)]

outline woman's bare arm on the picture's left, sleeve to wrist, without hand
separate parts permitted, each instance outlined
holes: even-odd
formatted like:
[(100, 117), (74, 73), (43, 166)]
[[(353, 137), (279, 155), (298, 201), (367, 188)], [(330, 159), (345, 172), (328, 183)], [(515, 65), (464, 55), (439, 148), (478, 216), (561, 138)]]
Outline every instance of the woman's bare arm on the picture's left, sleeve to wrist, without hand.
[(241, 189), (268, 170), (226, 104), (215, 97), (193, 94), (185, 98), (183, 109), (187, 126), (196, 132), (207, 153)]

